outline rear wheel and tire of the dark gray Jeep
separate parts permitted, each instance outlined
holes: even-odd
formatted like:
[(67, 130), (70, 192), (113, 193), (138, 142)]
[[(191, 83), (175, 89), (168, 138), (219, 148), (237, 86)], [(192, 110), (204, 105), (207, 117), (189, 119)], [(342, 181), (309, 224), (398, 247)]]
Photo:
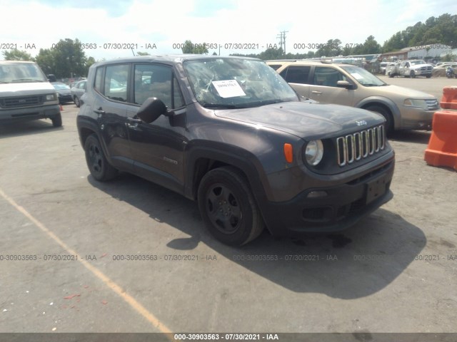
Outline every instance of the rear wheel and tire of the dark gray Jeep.
[(95, 134), (86, 138), (84, 152), (86, 152), (86, 163), (92, 177), (100, 182), (106, 182), (116, 177), (118, 171), (106, 160), (99, 138)]

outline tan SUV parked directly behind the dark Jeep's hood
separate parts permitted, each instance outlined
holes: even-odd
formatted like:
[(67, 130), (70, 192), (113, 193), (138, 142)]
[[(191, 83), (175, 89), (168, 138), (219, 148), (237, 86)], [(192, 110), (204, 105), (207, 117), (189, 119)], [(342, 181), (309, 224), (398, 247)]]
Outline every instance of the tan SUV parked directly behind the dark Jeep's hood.
[[(268, 65), (276, 61), (268, 61)], [(292, 88), (321, 103), (350, 105), (379, 113), (386, 130), (431, 128), (438, 100), (427, 93), (391, 86), (372, 73), (341, 63), (321, 61), (282, 62), (276, 70)]]

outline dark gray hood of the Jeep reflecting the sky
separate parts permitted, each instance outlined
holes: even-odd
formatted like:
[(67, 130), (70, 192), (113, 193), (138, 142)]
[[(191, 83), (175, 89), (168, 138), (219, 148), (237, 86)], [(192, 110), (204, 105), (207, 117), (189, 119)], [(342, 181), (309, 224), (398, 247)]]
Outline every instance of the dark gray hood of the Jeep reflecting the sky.
[(384, 122), (368, 110), (321, 103), (284, 102), (256, 108), (215, 110), (219, 118), (261, 125), (300, 138), (327, 138)]

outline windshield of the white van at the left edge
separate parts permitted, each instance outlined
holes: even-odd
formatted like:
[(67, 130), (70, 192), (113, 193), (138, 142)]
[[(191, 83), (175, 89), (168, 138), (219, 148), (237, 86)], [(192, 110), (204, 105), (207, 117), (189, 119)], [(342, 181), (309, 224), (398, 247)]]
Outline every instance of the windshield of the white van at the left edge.
[(0, 63), (0, 83), (47, 82), (48, 79), (34, 63)]

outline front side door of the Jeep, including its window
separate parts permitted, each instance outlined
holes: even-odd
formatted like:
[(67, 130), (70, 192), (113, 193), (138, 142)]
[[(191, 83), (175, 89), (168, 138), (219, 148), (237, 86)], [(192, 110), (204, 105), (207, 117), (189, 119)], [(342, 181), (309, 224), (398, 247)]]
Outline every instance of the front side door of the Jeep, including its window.
[[(162, 100), (169, 112), (184, 117), (186, 106), (170, 66), (157, 64), (134, 65), (134, 103), (128, 111), (136, 118), (138, 105), (146, 98)], [(185, 120), (174, 120), (161, 115), (152, 123), (127, 123), (131, 150), (134, 158), (134, 172), (153, 182), (158, 182), (171, 190), (184, 191), (184, 149), (187, 144)]]

